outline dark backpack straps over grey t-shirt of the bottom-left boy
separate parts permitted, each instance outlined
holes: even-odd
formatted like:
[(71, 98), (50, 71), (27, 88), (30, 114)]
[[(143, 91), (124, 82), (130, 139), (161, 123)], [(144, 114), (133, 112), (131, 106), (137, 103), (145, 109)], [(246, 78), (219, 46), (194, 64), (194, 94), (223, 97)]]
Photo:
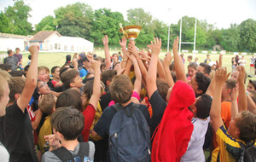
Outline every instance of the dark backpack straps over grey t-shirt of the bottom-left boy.
[[(76, 156), (84, 159), (84, 156), (89, 156), (90, 145), (88, 142), (79, 142), (79, 153)], [(67, 162), (71, 160), (74, 162), (74, 157), (70, 151), (65, 147), (61, 147), (52, 151), (62, 162)]]

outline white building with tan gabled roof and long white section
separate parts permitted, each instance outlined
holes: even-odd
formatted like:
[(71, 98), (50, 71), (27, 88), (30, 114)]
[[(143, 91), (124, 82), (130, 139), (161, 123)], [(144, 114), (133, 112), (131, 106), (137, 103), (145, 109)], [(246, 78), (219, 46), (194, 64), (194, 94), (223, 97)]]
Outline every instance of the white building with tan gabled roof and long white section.
[(29, 43), (39, 44), (40, 50), (49, 52), (87, 52), (93, 51), (93, 43), (76, 37), (61, 36), (56, 31), (41, 31), (29, 39)]

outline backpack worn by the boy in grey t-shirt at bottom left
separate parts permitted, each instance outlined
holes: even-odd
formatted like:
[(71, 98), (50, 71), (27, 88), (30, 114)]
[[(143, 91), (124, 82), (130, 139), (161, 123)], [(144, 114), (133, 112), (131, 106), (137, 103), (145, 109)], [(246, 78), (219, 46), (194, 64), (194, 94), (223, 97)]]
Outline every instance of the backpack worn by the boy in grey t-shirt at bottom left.
[(55, 155), (61, 159), (62, 162), (80, 162), (80, 161), (86, 161), (90, 162), (92, 161), (89, 158), (89, 150), (90, 145), (88, 142), (79, 142), (79, 153), (75, 156), (73, 156), (70, 151), (67, 150), (67, 148), (61, 147), (58, 149), (55, 149), (51, 153), (55, 153)]

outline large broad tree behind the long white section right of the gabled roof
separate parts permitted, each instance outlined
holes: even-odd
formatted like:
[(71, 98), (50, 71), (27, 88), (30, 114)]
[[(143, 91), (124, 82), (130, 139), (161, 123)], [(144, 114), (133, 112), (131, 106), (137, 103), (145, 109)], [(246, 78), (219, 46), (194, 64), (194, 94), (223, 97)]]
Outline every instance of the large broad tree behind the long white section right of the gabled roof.
[(81, 37), (91, 40), (90, 29), (93, 10), (88, 4), (74, 3), (55, 9), (57, 31), (63, 36)]

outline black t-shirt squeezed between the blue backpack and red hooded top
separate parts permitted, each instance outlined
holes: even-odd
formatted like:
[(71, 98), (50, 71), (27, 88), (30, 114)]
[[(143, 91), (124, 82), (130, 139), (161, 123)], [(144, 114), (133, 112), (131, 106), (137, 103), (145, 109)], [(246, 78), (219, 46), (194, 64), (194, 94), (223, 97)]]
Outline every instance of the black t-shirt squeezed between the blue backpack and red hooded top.
[(151, 117), (151, 126), (150, 126), (150, 132), (151, 136), (154, 134), (154, 130), (160, 124), (160, 121), (163, 117), (163, 114), (166, 110), (167, 103), (166, 101), (161, 97), (158, 90), (155, 90), (153, 95), (151, 95), (149, 102), (152, 107), (152, 117)]

